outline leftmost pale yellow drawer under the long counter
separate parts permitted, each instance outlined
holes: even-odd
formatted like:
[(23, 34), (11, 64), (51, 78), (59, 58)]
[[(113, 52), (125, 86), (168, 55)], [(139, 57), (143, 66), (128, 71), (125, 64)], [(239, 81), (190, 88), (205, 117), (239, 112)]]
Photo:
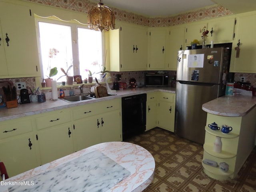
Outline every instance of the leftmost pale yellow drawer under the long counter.
[(31, 119), (7, 120), (0, 124), (0, 139), (31, 132), (32, 130)]

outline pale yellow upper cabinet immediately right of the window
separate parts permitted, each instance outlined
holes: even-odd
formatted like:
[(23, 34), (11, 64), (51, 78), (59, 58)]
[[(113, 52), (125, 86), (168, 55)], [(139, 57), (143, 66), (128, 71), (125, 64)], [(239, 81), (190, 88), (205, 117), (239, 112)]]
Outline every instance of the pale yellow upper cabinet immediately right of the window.
[(117, 27), (109, 31), (110, 70), (146, 70), (147, 27), (125, 22), (118, 22)]

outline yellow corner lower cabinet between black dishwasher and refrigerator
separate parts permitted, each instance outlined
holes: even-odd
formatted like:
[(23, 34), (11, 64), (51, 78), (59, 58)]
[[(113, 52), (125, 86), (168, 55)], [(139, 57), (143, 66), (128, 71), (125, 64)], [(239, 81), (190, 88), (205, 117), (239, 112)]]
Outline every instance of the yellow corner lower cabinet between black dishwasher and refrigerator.
[(146, 131), (156, 126), (174, 132), (175, 94), (147, 93)]

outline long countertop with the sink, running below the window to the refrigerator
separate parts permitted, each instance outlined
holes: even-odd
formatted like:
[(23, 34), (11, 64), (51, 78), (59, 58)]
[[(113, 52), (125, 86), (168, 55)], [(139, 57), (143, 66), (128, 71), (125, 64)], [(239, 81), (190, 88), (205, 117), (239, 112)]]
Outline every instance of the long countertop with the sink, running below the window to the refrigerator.
[(58, 99), (56, 101), (52, 101), (46, 99), (46, 102), (38, 103), (31, 102), (27, 104), (19, 104), (16, 108), (0, 108), (0, 121), (11, 120), (14, 118), (25, 117), (34, 114), (40, 114), (44, 112), (50, 112), (54, 110), (69, 108), (80, 106), (93, 102), (106, 101), (114, 98), (121, 98), (126, 96), (132, 96), (136, 94), (143, 94), (147, 92), (154, 91), (163, 91), (163, 92), (171, 92), (175, 93), (175, 88), (171, 87), (143, 87), (143, 88), (132, 88), (127, 90), (117, 90), (115, 96), (108, 96), (104, 98), (95, 98), (90, 100), (84, 100), (81, 102), (68, 103), (64, 100)]

